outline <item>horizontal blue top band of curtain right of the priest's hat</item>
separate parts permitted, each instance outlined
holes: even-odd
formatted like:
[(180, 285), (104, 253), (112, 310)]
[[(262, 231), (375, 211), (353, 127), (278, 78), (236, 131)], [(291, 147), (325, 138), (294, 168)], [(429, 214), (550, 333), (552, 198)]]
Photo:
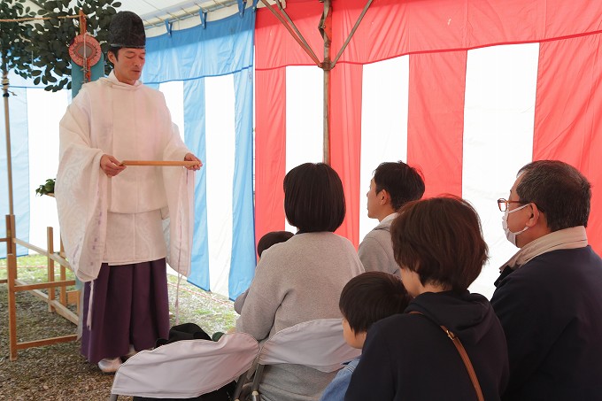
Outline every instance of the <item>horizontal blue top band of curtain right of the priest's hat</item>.
[(242, 71), (253, 63), (255, 12), (249, 10), (146, 40), (143, 82), (187, 81)]

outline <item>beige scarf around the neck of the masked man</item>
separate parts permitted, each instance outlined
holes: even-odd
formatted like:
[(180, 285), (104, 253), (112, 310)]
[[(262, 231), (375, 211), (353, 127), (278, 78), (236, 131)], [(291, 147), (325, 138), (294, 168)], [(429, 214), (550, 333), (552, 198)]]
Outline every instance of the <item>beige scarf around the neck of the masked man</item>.
[(584, 248), (587, 244), (587, 234), (583, 226), (554, 231), (523, 246), (521, 250), (516, 252), (510, 260), (499, 268), (499, 271), (504, 270), (506, 266), (516, 270), (532, 258), (550, 251), (574, 250), (576, 248)]

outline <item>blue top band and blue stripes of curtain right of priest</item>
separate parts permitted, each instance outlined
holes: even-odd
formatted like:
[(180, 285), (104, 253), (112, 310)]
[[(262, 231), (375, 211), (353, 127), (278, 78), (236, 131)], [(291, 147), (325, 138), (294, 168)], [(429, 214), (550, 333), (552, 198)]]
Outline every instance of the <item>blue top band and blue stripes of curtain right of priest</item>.
[[(232, 262), (229, 297), (247, 289), (255, 269), (252, 192), (252, 65), (255, 10), (235, 14), (146, 42), (142, 81), (149, 86), (184, 81), (184, 137), (187, 146), (205, 160), (205, 82), (202, 78), (240, 73), (236, 89), (236, 154), (233, 202)], [(189, 282), (210, 289), (207, 232), (206, 174), (197, 172), (195, 227)]]

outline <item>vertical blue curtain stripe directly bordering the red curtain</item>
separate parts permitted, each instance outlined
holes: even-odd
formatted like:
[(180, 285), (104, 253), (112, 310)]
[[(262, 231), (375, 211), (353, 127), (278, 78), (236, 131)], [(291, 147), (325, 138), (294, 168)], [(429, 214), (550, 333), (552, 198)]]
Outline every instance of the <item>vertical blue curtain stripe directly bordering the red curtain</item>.
[[(250, 12), (247, 10), (247, 12)], [(235, 73), (235, 170), (232, 201), (232, 262), (228, 293), (235, 299), (249, 288), (255, 274), (253, 210), (253, 71)]]

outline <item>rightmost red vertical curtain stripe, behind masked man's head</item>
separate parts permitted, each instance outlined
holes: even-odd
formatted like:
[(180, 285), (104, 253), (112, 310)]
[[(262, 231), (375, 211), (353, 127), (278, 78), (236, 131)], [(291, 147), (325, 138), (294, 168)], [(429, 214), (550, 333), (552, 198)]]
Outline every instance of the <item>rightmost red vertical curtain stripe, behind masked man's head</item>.
[(540, 45), (533, 159), (560, 159), (592, 184), (588, 237), (602, 251), (601, 35)]

